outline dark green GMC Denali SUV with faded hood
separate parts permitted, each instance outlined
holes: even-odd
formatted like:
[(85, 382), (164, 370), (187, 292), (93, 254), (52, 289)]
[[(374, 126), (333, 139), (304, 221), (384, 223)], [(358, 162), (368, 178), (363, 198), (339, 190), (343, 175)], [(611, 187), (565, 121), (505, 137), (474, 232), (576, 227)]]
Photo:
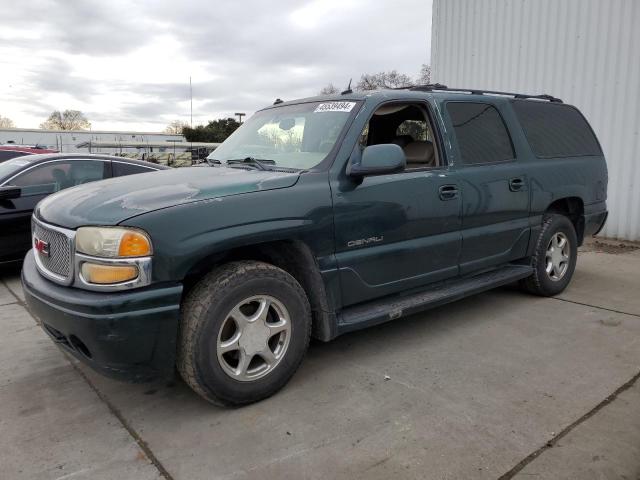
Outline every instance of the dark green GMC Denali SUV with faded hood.
[(22, 284), (99, 372), (254, 402), (310, 337), (519, 282), (563, 291), (607, 217), (582, 114), (548, 95), (448, 89), (277, 101), (205, 168), (62, 191), (33, 214)]

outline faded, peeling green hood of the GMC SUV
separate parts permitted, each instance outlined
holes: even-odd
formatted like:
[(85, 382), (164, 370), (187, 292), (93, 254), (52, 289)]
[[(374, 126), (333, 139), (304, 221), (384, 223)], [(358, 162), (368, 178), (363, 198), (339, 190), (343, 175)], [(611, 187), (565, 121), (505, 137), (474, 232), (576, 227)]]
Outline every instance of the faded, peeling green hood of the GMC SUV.
[(299, 173), (187, 167), (88, 183), (42, 200), (35, 214), (66, 228), (116, 225), (161, 208), (295, 185)]

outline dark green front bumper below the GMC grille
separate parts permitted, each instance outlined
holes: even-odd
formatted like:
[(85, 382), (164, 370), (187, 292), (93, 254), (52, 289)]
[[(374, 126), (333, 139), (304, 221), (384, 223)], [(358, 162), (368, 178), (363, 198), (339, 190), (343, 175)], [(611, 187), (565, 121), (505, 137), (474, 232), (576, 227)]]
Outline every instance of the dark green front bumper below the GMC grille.
[(22, 288), (45, 332), (94, 370), (134, 382), (173, 373), (182, 285), (117, 293), (64, 287), (40, 275), (30, 251)]

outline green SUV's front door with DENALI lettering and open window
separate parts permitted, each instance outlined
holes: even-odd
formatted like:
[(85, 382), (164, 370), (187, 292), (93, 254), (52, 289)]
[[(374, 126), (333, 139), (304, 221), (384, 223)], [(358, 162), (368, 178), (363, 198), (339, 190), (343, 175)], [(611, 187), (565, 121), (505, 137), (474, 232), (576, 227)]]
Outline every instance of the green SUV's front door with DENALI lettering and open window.
[(409, 291), (458, 274), (462, 224), (459, 176), (438, 148), (425, 103), (387, 102), (374, 111), (352, 161), (393, 143), (405, 171), (332, 181), (336, 260), (343, 306)]

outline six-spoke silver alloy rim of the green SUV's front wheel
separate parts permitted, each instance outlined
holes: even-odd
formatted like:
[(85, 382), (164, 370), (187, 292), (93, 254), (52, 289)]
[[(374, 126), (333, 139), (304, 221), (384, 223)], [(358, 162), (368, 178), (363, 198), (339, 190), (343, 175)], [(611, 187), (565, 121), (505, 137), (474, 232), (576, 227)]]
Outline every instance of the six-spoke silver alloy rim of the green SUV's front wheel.
[(250, 382), (272, 372), (284, 358), (291, 318), (274, 297), (256, 295), (231, 309), (218, 332), (216, 353), (231, 378)]

